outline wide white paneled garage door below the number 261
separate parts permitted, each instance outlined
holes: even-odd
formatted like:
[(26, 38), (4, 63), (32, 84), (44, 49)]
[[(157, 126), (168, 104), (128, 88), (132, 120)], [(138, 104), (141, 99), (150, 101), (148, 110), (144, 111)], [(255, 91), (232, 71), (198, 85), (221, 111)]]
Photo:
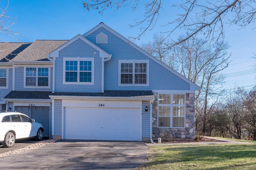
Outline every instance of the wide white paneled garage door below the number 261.
[(64, 139), (140, 140), (140, 109), (64, 107)]

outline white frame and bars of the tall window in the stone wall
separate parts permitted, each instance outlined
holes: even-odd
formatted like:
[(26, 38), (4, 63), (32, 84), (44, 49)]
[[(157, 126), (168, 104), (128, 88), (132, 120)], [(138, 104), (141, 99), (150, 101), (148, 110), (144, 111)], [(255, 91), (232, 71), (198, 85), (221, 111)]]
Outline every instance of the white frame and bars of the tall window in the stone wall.
[[(186, 128), (186, 93), (158, 93), (157, 94), (157, 107), (159, 108), (159, 94), (164, 94), (164, 95), (171, 95), (171, 104), (168, 105), (168, 104), (160, 104), (161, 106), (170, 106), (170, 127), (159, 127), (158, 125), (158, 121), (159, 121), (159, 113), (157, 113), (157, 127), (158, 128)], [(173, 95), (185, 95), (185, 101), (184, 101), (184, 105), (177, 105), (177, 104), (172, 104), (172, 101), (173, 101)], [(172, 107), (173, 106), (181, 106), (181, 107), (184, 107), (184, 127), (173, 127), (172, 126), (172, 118), (174, 116), (172, 116)], [(159, 110), (157, 108), (157, 110)], [(176, 116), (175, 116), (176, 117)]]

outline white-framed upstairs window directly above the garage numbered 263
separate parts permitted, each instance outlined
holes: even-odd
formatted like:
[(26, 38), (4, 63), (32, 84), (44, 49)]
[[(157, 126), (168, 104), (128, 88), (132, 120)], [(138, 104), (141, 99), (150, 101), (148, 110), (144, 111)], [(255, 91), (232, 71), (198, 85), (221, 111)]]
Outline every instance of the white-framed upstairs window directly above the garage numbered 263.
[(49, 67), (25, 67), (25, 87), (49, 87)]

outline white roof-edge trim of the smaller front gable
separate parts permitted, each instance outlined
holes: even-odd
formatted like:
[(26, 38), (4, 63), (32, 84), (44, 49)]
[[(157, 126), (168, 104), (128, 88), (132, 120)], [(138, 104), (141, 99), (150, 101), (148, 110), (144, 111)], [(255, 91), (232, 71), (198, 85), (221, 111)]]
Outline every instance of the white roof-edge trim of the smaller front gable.
[(108, 54), (106, 51), (104, 51), (103, 49), (101, 49), (100, 47), (98, 47), (97, 45), (95, 45), (94, 43), (90, 42), (89, 40), (87, 40), (86, 38), (84, 38), (83, 36), (81, 36), (80, 34), (78, 34), (77, 36), (75, 36), (74, 38), (72, 38), (71, 40), (69, 40), (68, 42), (64, 43), (63, 45), (61, 45), (60, 47), (58, 47), (57, 49), (55, 49), (54, 51), (50, 52), (48, 54), (49, 57), (59, 57), (59, 51), (64, 49), (65, 47), (67, 47), (68, 45), (70, 45), (71, 43), (75, 42), (76, 40), (81, 39), (82, 41), (84, 41), (85, 43), (87, 43), (88, 45), (90, 45), (91, 47), (93, 47), (94, 49), (96, 49), (97, 51), (100, 52), (100, 57), (101, 58), (108, 58), (110, 56), (110, 54)]

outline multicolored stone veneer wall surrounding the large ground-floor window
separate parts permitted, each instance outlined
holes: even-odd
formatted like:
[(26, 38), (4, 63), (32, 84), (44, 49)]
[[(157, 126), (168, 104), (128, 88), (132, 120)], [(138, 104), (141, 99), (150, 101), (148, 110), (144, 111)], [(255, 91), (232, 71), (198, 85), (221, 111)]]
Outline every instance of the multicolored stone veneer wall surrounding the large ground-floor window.
[(158, 128), (158, 93), (154, 93), (155, 100), (152, 104), (152, 138), (162, 138), (162, 140), (168, 140), (166, 137), (169, 133), (169, 138), (172, 140), (194, 140), (195, 138), (195, 94), (186, 93), (186, 126), (185, 128)]

